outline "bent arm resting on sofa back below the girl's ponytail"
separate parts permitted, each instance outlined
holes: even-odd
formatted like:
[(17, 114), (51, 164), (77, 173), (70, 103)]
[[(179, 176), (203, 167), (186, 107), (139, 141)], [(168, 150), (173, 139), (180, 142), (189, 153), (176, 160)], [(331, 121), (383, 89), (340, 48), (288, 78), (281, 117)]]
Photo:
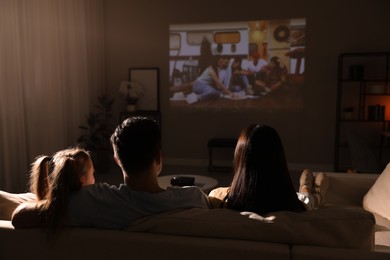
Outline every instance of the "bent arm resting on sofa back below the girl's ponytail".
[(46, 225), (47, 211), (43, 203), (22, 203), (12, 214), (12, 225), (15, 228), (35, 228)]

